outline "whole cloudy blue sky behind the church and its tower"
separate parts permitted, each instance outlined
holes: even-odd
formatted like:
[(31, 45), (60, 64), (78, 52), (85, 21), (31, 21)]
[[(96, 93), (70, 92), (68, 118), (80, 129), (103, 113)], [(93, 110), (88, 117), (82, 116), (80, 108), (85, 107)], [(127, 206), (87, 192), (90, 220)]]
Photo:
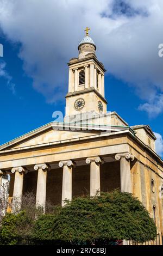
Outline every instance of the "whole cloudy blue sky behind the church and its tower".
[[(116, 111), (130, 126), (149, 124), (154, 132), (162, 136), (163, 58), (158, 57), (158, 44), (163, 42), (163, 36), (157, 33), (153, 39), (146, 27), (146, 23), (150, 25), (151, 22), (151, 33), (152, 29), (156, 33), (154, 23), (158, 13), (150, 13), (150, 7), (155, 1), (150, 0), (151, 5), (147, 4), (146, 7), (140, 1), (133, 1), (132, 7), (127, 7), (130, 11), (127, 14), (124, 5), (121, 10), (121, 5), (115, 8), (115, 4), (113, 6), (111, 2), (117, 4), (128, 1), (103, 0), (102, 9), (97, 1), (91, 0), (84, 10), (82, 22), (76, 17), (76, 11), (81, 9), (83, 1), (78, 1), (78, 4), (73, 0), (67, 1), (68, 5), (61, 1), (62, 8), (55, 5), (53, 9), (53, 13), (61, 13), (62, 18), (66, 19), (62, 21), (64, 24), (60, 23), (60, 29), (53, 22), (53, 0), (49, 0), (46, 13), (43, 5), (39, 5), (36, 0), (33, 4), (33, 14), (31, 11), (29, 14), (31, 1), (22, 1), (23, 4), (20, 4), (15, 0), (14, 5), (11, 5), (13, 1), (6, 0), (7, 5), (3, 6), (0, 0), (0, 43), (4, 47), (4, 57), (0, 57), (0, 65), (5, 71), (5, 74), (1, 75), (0, 69), (0, 144), (49, 123), (53, 120), (54, 111), (64, 111), (64, 96), (68, 88), (66, 63), (70, 58), (78, 56), (78, 42), (83, 39), (86, 26), (91, 27), (90, 35), (97, 45), (97, 57), (107, 69), (105, 97), (108, 101), (108, 111)], [(161, 3), (159, 0), (157, 2)], [(40, 9), (32, 24), (35, 8)], [(19, 11), (24, 11), (25, 17), (18, 15)], [(104, 11), (105, 17), (101, 15)], [(160, 11), (163, 11), (161, 4)], [(69, 15), (69, 18), (64, 18), (63, 12)], [(146, 15), (142, 17), (142, 14)], [(46, 15), (49, 23), (41, 23)], [(77, 18), (73, 29), (72, 17)], [(163, 151), (163, 148), (160, 153), (161, 150)]]

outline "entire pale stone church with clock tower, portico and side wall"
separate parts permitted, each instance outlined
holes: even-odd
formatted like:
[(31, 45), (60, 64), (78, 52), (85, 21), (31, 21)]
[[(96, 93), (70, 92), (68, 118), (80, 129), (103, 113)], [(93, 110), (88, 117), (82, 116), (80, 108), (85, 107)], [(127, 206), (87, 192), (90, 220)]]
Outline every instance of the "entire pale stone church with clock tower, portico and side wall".
[(162, 234), (163, 161), (155, 135), (148, 125), (129, 126), (106, 111), (105, 69), (87, 29), (78, 50), (68, 63), (64, 121), (0, 146), (0, 176), (11, 177), (9, 200), (29, 191), (43, 207), (47, 200), (64, 205), (74, 196), (120, 188), (141, 200)]

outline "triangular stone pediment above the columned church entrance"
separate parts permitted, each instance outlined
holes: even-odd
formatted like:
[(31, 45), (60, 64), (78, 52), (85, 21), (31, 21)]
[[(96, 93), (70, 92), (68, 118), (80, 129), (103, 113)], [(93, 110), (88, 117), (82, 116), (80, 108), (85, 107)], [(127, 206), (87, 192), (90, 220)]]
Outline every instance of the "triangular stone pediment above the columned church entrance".
[(49, 123), (12, 141), (0, 146), (0, 151), (46, 147), (48, 145), (71, 142), (76, 139), (85, 139), (101, 135), (103, 132), (121, 132), (130, 130), (129, 127), (107, 125), (85, 125), (72, 123)]

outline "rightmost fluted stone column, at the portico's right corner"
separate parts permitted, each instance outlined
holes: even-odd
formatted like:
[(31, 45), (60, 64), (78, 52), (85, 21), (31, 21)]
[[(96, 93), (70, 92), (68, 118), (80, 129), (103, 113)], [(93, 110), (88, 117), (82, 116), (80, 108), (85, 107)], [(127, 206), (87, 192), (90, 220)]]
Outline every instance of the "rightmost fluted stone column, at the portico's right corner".
[(131, 173), (130, 160), (134, 160), (134, 156), (130, 153), (116, 154), (116, 160), (120, 160), (120, 175), (121, 175), (121, 192), (131, 193)]

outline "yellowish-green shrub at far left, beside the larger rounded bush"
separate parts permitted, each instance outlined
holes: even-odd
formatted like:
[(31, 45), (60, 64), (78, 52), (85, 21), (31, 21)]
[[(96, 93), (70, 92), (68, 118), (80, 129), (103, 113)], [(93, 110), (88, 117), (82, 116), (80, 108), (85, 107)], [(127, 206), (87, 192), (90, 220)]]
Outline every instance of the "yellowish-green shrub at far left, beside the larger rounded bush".
[(7, 213), (1, 220), (0, 243), (6, 245), (26, 244), (32, 240), (32, 230), (36, 217), (43, 214), (41, 207), (35, 206), (35, 195), (26, 193), (20, 199), (14, 198), (12, 214)]

